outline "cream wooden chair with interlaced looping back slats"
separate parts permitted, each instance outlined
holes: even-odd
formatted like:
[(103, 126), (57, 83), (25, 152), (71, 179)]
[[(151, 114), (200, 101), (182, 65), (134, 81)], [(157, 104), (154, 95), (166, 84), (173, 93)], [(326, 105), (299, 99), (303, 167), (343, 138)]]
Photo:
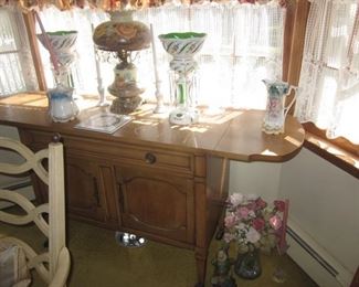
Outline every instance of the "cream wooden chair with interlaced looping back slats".
[[(43, 149), (34, 153), (18, 140), (0, 137), (0, 147), (18, 152), (25, 160), (23, 163), (12, 164), (7, 162), (1, 163), (0, 159), (0, 173), (21, 174), (32, 169), (49, 185), (49, 203), (39, 206), (35, 206), (25, 196), (15, 191), (0, 189), (0, 200), (14, 203), (27, 213), (24, 215), (17, 215), (7, 212), (7, 210), (0, 210), (0, 222), (14, 225), (24, 225), (34, 222), (49, 238), (49, 248), (44, 253), (38, 254), (24, 241), (1, 234), (0, 243), (3, 246), (20, 246), (25, 257), (25, 267), (29, 270), (35, 269), (47, 286), (66, 286), (71, 259), (65, 245), (63, 145), (61, 142), (51, 142), (49, 149)], [(49, 159), (49, 172), (42, 166), (42, 160), (46, 158)], [(47, 221), (43, 217), (45, 214), (49, 214)], [(1, 283), (1, 266), (0, 286), (7, 286), (4, 283)], [(13, 284), (11, 286), (28, 285)]]

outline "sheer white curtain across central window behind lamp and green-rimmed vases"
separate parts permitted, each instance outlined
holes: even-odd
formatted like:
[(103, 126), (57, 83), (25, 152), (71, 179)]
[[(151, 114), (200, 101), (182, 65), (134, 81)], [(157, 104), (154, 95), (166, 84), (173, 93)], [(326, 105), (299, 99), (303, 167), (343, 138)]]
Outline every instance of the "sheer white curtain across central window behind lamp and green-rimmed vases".
[[(108, 15), (89, 9), (61, 12), (47, 8), (40, 17), (46, 31), (78, 31), (77, 61), (74, 65), (76, 88), (80, 93), (97, 93), (91, 23), (96, 26), (107, 21)], [(168, 102), (170, 56), (157, 38), (161, 33), (196, 31), (208, 34), (196, 56), (200, 78), (199, 104), (265, 108), (266, 91), (261, 81), (282, 77), (285, 9), (276, 1), (266, 4), (240, 4), (237, 1), (192, 6), (167, 3), (136, 11), (134, 19), (154, 26), (158, 70)], [(47, 51), (42, 49), (42, 55), (47, 82), (51, 83)], [(146, 88), (144, 96), (155, 99), (151, 49), (138, 52), (135, 64), (139, 85)], [(102, 64), (105, 87), (113, 81), (114, 65), (114, 61)]]

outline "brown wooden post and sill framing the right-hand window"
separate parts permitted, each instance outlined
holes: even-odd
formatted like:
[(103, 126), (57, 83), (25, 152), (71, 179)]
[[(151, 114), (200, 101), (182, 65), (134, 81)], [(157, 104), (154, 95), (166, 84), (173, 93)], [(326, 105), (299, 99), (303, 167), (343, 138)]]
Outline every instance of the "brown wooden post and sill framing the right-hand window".
[[(291, 42), (286, 42), (284, 46), (286, 66), (283, 68), (283, 79), (292, 85), (299, 83), (309, 8), (310, 2), (307, 0), (292, 0), (288, 3), (285, 40)], [(289, 113), (293, 114), (293, 110)], [(317, 128), (313, 123), (303, 124), (303, 127), (306, 131), (305, 148), (359, 179), (359, 169), (355, 163), (359, 162), (359, 145), (353, 145), (342, 137), (329, 139), (326, 130)]]

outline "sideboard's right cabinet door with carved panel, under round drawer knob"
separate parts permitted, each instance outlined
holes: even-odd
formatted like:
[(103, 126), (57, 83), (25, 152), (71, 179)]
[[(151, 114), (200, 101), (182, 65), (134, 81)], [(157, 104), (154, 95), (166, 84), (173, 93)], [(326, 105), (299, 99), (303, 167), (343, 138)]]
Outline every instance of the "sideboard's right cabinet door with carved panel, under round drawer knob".
[(151, 169), (116, 169), (122, 226), (193, 243), (193, 182)]

